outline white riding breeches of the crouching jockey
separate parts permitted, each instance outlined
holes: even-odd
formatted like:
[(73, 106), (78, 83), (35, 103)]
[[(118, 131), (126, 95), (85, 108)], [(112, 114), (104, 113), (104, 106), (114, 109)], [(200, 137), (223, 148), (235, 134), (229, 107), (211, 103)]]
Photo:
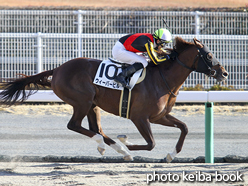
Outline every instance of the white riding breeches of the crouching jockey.
[(134, 52), (130, 52), (126, 50), (123, 44), (119, 41), (116, 42), (112, 49), (112, 55), (118, 61), (128, 64), (134, 64), (136, 62), (140, 62), (143, 64), (144, 68), (148, 65), (146, 57), (143, 55), (138, 55)]

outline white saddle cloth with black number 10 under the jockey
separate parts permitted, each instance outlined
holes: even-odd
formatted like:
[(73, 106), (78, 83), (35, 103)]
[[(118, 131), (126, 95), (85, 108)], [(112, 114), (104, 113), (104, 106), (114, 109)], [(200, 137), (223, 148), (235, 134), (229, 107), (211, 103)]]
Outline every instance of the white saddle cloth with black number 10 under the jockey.
[[(115, 76), (117, 76), (121, 71), (121, 64), (113, 63), (110, 60), (104, 60), (98, 67), (93, 83), (102, 87), (123, 90), (123, 86), (114, 81)], [(133, 89), (136, 83), (140, 83), (144, 80), (145, 74), (146, 70), (143, 69), (138, 70), (133, 74), (130, 79), (131, 89)]]

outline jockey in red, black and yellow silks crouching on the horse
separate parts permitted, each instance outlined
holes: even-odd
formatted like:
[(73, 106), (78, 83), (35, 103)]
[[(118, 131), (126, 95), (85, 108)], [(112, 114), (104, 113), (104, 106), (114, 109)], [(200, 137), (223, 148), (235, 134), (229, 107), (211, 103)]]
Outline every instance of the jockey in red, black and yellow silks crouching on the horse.
[[(147, 52), (151, 61), (158, 65), (170, 59), (168, 53), (163, 50), (163, 47), (170, 42), (172, 42), (172, 35), (165, 28), (156, 30), (154, 34), (136, 33), (121, 37), (113, 47), (112, 55), (115, 59), (130, 64), (130, 66), (125, 68), (114, 80), (130, 89), (126, 79), (148, 65), (146, 57), (137, 53)], [(161, 52), (163, 57), (158, 58), (157, 54), (161, 54)]]

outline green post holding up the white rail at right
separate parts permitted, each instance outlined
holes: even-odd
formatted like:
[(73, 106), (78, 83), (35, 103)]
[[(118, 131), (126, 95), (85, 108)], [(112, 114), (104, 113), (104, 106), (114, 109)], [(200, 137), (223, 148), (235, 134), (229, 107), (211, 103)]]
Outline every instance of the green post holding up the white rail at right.
[(214, 163), (213, 102), (205, 103), (205, 163)]

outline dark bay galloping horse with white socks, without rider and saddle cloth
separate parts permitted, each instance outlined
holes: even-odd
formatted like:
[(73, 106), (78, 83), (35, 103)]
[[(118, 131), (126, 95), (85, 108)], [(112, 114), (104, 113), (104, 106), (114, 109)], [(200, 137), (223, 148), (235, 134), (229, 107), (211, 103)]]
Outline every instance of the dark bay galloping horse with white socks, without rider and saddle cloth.
[[(186, 78), (192, 71), (205, 73), (217, 81), (225, 80), (228, 76), (209, 49), (197, 39), (191, 43), (177, 37), (173, 50), (178, 54), (175, 60), (147, 67), (144, 81), (132, 90), (129, 118), (147, 144), (136, 145), (128, 142), (124, 135), (118, 137), (129, 150), (150, 151), (155, 146), (150, 123), (179, 128), (181, 134), (175, 150), (166, 157), (168, 162), (181, 151), (188, 133), (186, 124), (169, 114)], [(107, 144), (121, 153), (125, 160), (132, 160), (129, 152), (106, 136), (101, 127), (100, 108), (119, 115), (121, 92), (93, 84), (100, 62), (101, 60), (89, 58), (72, 59), (56, 69), (9, 82), (0, 93), (2, 103), (13, 105), (17, 101), (26, 100), (35, 93), (27, 91), (30, 87), (33, 89), (38, 89), (40, 85), (51, 87), (60, 99), (73, 107), (68, 129), (95, 140), (101, 154), (104, 153)], [(49, 80), (50, 76), (52, 80)], [(88, 118), (89, 129), (81, 126), (85, 116)]]

